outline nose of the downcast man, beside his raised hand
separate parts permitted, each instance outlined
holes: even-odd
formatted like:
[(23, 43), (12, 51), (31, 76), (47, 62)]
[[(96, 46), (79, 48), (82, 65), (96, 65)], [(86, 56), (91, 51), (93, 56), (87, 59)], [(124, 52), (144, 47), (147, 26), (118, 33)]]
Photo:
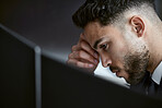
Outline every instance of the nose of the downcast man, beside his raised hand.
[(104, 68), (107, 68), (112, 64), (112, 60), (111, 60), (111, 57), (108, 55), (102, 55), (101, 60), (102, 60), (102, 65)]

